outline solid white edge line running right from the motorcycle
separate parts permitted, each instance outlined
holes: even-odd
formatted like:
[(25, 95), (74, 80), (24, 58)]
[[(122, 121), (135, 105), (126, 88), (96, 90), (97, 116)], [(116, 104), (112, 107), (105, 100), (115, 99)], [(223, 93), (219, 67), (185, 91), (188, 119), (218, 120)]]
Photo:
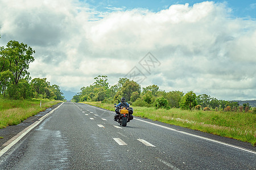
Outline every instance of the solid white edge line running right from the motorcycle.
[(140, 119), (138, 119), (138, 118), (134, 118), (134, 119), (135, 119), (135, 120), (142, 121), (142, 122), (146, 122), (146, 123), (151, 124), (151, 125), (159, 126), (159, 127), (161, 127), (161, 128), (165, 128), (165, 129), (169, 129), (169, 130), (176, 131), (176, 132), (179, 132), (179, 133), (191, 135), (192, 137), (205, 139), (205, 140), (207, 140), (207, 141), (211, 141), (211, 142), (215, 142), (215, 143), (220, 143), (220, 144), (225, 145), (225, 146), (237, 148), (237, 149), (239, 149), (239, 150), (243, 150), (243, 151), (246, 151), (246, 152), (250, 152), (250, 153), (256, 154), (256, 152), (254, 152), (254, 151), (247, 150), (247, 149), (245, 149), (245, 148), (241, 148), (241, 147), (238, 147), (238, 146), (230, 145), (230, 144), (228, 144), (228, 143), (216, 141), (216, 140), (210, 139), (210, 138), (201, 137), (201, 136), (199, 136), (199, 135), (190, 134), (190, 133), (187, 133), (187, 132), (185, 132), (185, 131), (175, 130), (175, 129), (172, 129), (172, 128), (168, 128), (168, 127), (166, 127), (166, 126), (162, 126), (162, 125), (154, 124), (154, 123), (152, 123), (152, 122), (147, 122), (147, 121), (144, 121), (144, 120), (140, 120)]

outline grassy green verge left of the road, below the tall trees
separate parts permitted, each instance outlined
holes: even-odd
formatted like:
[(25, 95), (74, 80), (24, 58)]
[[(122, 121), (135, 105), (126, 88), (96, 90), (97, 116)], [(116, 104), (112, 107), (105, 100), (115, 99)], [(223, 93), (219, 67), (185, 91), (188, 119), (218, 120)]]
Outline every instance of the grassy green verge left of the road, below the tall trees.
[[(42, 100), (42, 107), (40, 107), (40, 100)], [(59, 102), (47, 99), (9, 100), (0, 98), (0, 129), (18, 125), (28, 117), (45, 111)]]

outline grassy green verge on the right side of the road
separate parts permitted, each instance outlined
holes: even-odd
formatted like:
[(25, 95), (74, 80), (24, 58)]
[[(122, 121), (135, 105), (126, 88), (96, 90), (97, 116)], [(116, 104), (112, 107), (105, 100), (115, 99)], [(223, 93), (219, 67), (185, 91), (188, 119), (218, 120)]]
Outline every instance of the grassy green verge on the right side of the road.
[[(100, 102), (87, 103), (114, 111), (113, 104)], [(185, 111), (147, 107), (133, 107), (134, 116), (150, 118), (166, 124), (200, 130), (207, 133), (249, 142), (256, 146), (256, 114), (244, 112)]]

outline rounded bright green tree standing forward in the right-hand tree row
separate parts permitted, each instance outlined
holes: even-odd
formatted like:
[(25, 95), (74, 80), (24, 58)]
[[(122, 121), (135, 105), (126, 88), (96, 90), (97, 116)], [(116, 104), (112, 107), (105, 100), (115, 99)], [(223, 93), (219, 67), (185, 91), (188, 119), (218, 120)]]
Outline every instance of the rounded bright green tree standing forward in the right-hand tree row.
[(180, 100), (181, 109), (189, 109), (191, 111), (196, 105), (196, 94), (193, 91), (187, 92)]

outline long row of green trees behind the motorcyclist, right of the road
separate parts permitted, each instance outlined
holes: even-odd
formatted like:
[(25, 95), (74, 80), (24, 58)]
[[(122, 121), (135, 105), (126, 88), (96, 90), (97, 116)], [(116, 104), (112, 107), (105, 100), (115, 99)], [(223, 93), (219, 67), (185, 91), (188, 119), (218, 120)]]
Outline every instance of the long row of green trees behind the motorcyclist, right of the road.
[[(217, 111), (241, 111), (241, 106), (235, 101), (218, 100), (207, 94), (196, 95), (193, 91), (184, 94), (181, 91), (166, 92), (155, 84), (141, 88), (128, 78), (119, 78), (114, 86), (108, 83), (108, 76), (98, 75), (90, 86), (82, 87), (73, 96), (72, 101), (101, 101), (102, 103), (119, 103), (125, 97), (128, 103), (139, 107), (181, 108), (181, 109), (210, 109)], [(242, 106), (242, 111), (250, 109), (249, 104)]]

